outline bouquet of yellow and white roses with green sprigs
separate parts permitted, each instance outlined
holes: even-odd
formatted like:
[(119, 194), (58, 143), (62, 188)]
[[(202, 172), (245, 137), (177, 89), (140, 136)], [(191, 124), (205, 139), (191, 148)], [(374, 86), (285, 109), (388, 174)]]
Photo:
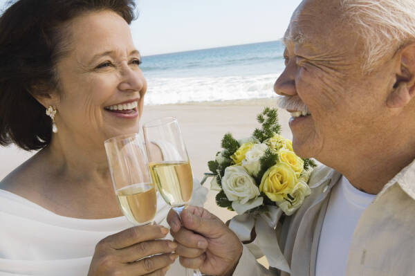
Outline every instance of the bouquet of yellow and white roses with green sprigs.
[(311, 193), (308, 176), (316, 165), (299, 158), (291, 140), (280, 135), (277, 109), (264, 109), (257, 120), (261, 128), (251, 137), (223, 136), (223, 150), (208, 163), (214, 175), (211, 189), (219, 191), (217, 205), (238, 214), (267, 212), (267, 206), (277, 206), (289, 216)]

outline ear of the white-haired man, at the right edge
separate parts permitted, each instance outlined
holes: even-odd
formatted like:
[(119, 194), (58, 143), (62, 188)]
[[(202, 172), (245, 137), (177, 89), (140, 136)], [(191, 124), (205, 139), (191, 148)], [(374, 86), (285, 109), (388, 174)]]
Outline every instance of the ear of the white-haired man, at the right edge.
[(396, 73), (394, 89), (387, 97), (387, 107), (405, 107), (415, 96), (415, 43), (399, 50), (400, 68)]

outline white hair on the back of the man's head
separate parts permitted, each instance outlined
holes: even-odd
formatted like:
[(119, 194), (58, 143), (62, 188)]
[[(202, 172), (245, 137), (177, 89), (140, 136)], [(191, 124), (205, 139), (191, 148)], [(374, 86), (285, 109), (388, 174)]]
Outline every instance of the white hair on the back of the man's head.
[(415, 0), (341, 0), (344, 15), (365, 41), (365, 71), (384, 55), (415, 42)]

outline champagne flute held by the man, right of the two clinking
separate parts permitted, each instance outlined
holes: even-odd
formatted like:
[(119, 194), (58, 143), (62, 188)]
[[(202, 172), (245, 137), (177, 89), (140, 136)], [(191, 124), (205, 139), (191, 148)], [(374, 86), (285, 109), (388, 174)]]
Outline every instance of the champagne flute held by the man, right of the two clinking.
[[(163, 199), (180, 218), (192, 198), (193, 177), (177, 119), (163, 118), (147, 122), (143, 132), (151, 178)], [(155, 147), (160, 150), (154, 150)], [(201, 273), (199, 270), (186, 269), (186, 275), (201, 276)]]

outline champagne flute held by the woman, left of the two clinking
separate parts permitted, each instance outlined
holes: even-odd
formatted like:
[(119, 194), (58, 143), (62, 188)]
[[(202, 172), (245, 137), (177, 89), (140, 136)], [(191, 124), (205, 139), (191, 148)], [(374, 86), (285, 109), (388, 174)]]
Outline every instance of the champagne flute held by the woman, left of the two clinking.
[(151, 181), (144, 140), (139, 134), (128, 134), (106, 140), (104, 146), (122, 213), (135, 226), (153, 223), (156, 187)]

